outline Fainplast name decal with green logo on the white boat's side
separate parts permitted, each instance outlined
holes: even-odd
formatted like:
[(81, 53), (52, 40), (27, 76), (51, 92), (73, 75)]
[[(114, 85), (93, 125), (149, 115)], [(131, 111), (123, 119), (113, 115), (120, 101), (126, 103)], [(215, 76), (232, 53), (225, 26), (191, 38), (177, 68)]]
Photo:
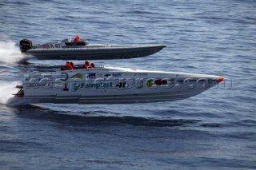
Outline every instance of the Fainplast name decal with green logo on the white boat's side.
[(100, 82), (100, 83), (75, 82), (73, 84), (74, 91), (77, 91), (78, 89), (109, 89), (109, 88), (113, 88), (112, 82)]

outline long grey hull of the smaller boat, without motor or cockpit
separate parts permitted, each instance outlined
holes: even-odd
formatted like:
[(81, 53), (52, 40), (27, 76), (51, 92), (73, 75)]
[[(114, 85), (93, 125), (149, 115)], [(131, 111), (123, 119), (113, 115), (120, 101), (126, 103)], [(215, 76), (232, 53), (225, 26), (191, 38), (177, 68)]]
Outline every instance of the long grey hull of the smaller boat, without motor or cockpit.
[[(112, 47), (113, 46), (113, 47)], [(109, 60), (146, 57), (157, 53), (166, 45), (106, 45), (85, 48), (29, 49), (25, 54), (38, 60)]]

